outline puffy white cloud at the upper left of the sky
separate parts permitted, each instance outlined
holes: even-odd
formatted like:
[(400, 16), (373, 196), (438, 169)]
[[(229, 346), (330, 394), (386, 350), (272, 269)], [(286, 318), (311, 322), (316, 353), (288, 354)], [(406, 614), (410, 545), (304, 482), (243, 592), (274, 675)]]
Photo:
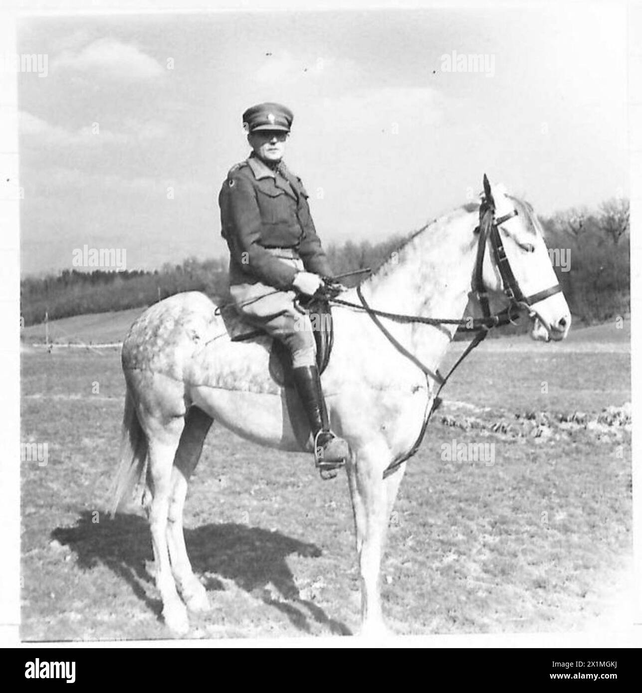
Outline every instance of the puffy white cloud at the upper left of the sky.
[(157, 60), (136, 46), (111, 38), (98, 39), (80, 51), (63, 50), (53, 60), (52, 69), (58, 68), (100, 73), (128, 82), (158, 78), (165, 72)]

